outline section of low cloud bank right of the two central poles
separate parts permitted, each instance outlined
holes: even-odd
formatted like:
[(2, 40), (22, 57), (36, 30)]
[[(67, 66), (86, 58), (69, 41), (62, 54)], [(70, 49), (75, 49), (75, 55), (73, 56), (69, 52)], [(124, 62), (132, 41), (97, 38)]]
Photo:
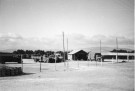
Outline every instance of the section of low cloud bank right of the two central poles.
[(105, 35), (93, 35), (85, 36), (83, 34), (71, 34), (70, 35), (70, 46), (72, 48), (89, 48), (99, 47), (100, 40), (102, 47), (116, 47), (116, 37), (118, 40), (119, 47), (132, 48), (134, 46), (134, 39), (126, 36), (105, 36)]

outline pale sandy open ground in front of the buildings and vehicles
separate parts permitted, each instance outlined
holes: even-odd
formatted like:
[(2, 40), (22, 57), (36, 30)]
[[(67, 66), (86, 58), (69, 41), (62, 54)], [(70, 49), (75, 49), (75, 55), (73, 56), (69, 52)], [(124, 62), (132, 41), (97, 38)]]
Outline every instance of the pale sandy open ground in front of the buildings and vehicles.
[[(6, 64), (22, 66), (21, 64)], [(0, 77), (0, 91), (134, 91), (134, 62), (23, 64), (25, 75)]]

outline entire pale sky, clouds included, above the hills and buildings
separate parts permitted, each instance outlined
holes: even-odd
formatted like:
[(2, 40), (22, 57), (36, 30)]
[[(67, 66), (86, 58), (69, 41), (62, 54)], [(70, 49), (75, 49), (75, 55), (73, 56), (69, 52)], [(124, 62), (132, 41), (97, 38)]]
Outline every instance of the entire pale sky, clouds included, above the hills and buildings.
[[(0, 0), (0, 49), (134, 46), (134, 0)], [(66, 43), (65, 43), (66, 45)]]

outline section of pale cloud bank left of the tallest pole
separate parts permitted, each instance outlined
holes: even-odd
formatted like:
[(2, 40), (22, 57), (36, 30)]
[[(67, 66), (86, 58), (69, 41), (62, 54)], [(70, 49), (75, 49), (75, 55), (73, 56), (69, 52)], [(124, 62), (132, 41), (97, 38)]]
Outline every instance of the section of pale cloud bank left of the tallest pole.
[(59, 37), (23, 37), (15, 33), (0, 33), (0, 50), (4, 49), (62, 49)]

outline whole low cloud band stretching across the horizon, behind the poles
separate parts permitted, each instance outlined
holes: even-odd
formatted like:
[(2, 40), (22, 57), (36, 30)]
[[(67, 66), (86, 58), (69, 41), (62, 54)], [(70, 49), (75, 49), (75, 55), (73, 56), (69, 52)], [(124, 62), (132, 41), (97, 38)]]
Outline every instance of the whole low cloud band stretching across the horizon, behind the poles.
[[(102, 47), (116, 47), (116, 37), (118, 39), (119, 47), (132, 48), (134, 46), (134, 39), (126, 36), (105, 36), (93, 35), (86, 36), (79, 33), (65, 34), (65, 48), (67, 47), (66, 39), (68, 37), (69, 49), (99, 47), (100, 40)], [(53, 37), (30, 37), (26, 38), (19, 34), (7, 33), (0, 34), (0, 50), (3, 49), (44, 49), (44, 50), (62, 50), (62, 34)]]

